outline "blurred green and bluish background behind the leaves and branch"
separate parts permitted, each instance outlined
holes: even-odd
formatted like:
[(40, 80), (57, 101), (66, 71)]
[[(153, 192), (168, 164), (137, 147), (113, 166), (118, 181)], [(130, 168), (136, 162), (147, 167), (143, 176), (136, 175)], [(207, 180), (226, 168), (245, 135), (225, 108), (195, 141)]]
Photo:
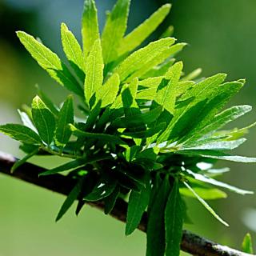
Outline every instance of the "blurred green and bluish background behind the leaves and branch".
[[(106, 10), (114, 0), (96, 0), (100, 26)], [(128, 30), (132, 30), (166, 1), (133, 0)], [(202, 67), (202, 75), (218, 72), (228, 79), (246, 78), (246, 86), (234, 97), (232, 104), (256, 104), (256, 2), (254, 0), (173, 0), (170, 17), (154, 34), (161, 34), (172, 24), (174, 36), (189, 45), (178, 55), (190, 72)], [(42, 39), (52, 50), (63, 56), (59, 26), (66, 22), (79, 40), (82, 0), (0, 0), (0, 123), (20, 122), (17, 108), (30, 104), (39, 84), (56, 102), (67, 94), (22, 48), (16, 30), (25, 30)], [(234, 126), (254, 122), (253, 110)], [(256, 128), (247, 136), (248, 142), (238, 154), (255, 156)], [(0, 134), (0, 150), (22, 156), (18, 144)], [(58, 166), (60, 159), (34, 159), (48, 167)], [(242, 188), (256, 190), (256, 166), (230, 164), (231, 171), (222, 178)], [(226, 245), (239, 248), (246, 231), (255, 239), (256, 196), (229, 194), (225, 200), (210, 205), (227, 222), (218, 223), (194, 199), (187, 201), (194, 225), (186, 228)], [(134, 255), (145, 254), (146, 239), (136, 231), (126, 238), (124, 225), (98, 210), (85, 206), (79, 218), (74, 209), (57, 224), (54, 217), (65, 198), (59, 194), (0, 175), (0, 256), (30, 255)], [(185, 254), (184, 254), (185, 255)]]

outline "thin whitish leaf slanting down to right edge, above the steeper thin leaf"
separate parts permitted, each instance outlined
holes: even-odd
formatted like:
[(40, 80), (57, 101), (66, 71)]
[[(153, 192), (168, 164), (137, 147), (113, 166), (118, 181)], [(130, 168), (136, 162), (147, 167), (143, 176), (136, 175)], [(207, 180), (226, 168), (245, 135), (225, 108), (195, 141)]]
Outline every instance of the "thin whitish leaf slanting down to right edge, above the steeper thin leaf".
[(241, 190), (238, 187), (231, 186), (231, 185), (226, 184), (224, 182), (219, 182), (214, 178), (207, 177), (206, 175), (196, 174), (192, 170), (186, 170), (186, 173), (189, 174), (191, 177), (197, 179), (198, 181), (206, 182), (206, 183), (212, 184), (214, 186), (220, 186), (220, 187), (226, 188), (227, 190), (230, 190), (234, 193), (243, 194), (243, 195), (244, 194), (254, 194), (253, 191)]

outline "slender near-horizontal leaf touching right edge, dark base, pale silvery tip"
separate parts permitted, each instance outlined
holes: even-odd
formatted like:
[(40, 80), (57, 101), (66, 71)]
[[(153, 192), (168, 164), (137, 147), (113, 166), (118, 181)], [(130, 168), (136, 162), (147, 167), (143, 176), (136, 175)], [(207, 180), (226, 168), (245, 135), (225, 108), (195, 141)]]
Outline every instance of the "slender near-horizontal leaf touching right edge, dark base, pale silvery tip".
[(238, 155), (230, 155), (217, 150), (181, 150), (178, 154), (200, 156), (202, 158), (222, 159), (232, 162), (256, 162), (256, 158), (247, 158)]

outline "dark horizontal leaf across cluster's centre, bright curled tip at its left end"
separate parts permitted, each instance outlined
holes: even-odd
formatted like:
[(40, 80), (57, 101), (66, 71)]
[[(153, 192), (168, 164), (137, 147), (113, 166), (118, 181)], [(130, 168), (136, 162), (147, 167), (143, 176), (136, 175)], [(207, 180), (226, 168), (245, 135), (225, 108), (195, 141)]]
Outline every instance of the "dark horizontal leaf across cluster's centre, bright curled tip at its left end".
[(79, 130), (73, 125), (70, 125), (70, 130), (72, 130), (73, 134), (75, 136), (81, 137), (81, 138), (94, 138), (102, 140), (103, 142), (110, 142), (114, 144), (119, 145), (126, 145), (126, 142), (123, 142), (121, 138), (118, 138), (117, 136), (110, 135), (110, 134), (96, 134), (96, 133), (88, 133), (82, 130)]

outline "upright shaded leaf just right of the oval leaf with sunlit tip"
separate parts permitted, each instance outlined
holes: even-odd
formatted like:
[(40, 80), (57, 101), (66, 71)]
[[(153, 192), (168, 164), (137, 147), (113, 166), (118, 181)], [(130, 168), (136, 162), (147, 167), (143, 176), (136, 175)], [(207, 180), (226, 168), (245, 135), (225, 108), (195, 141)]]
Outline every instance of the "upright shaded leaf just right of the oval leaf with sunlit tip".
[(64, 147), (72, 134), (69, 124), (74, 123), (73, 98), (69, 96), (64, 102), (58, 115), (58, 123), (55, 131), (54, 141), (57, 146)]

